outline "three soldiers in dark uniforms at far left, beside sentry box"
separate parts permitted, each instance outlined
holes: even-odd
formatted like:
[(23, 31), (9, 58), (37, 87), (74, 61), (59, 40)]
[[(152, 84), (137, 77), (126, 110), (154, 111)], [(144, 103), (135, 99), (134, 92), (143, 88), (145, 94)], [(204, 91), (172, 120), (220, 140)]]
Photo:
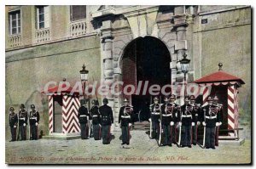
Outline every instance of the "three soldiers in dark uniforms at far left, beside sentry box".
[[(40, 115), (34, 104), (31, 104), (31, 111), (29, 115), (25, 110), (25, 105), (20, 104), (19, 114), (15, 113), (15, 108), (9, 108), (9, 127), (11, 132), (11, 142), (16, 140), (26, 140), (26, 127), (27, 120), (29, 120), (30, 139), (38, 139), (38, 123), (40, 121)], [(18, 129), (18, 136), (17, 136)]]

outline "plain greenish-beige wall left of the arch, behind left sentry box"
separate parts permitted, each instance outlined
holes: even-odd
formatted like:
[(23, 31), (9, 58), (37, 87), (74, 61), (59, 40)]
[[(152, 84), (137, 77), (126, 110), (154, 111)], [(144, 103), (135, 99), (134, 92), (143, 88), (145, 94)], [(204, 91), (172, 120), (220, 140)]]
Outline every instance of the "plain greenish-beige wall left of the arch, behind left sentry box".
[[(9, 106), (19, 110), (19, 104), (35, 104), (41, 115), (39, 131), (48, 133), (48, 100), (41, 91), (49, 81), (80, 81), (79, 70), (86, 65), (89, 82), (100, 82), (100, 40), (97, 36), (45, 44), (6, 53), (6, 138), (9, 139)], [(101, 98), (100, 98), (101, 99)], [(30, 110), (30, 108), (29, 108)]]

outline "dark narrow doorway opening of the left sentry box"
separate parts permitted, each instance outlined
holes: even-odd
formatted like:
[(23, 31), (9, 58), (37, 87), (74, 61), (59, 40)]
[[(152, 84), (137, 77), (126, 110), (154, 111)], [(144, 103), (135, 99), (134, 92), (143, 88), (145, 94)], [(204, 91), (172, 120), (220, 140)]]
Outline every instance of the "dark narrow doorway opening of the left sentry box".
[(54, 132), (62, 132), (62, 96), (54, 96)]

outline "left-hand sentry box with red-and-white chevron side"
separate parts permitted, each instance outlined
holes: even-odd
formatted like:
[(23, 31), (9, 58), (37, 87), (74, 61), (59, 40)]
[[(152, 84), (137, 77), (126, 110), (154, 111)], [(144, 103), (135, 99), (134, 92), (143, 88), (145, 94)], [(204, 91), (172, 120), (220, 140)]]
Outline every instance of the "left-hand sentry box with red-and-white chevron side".
[(73, 93), (73, 87), (67, 87), (63, 79), (60, 86), (43, 91), (49, 101), (49, 135), (73, 136), (80, 134), (78, 110), (79, 93)]

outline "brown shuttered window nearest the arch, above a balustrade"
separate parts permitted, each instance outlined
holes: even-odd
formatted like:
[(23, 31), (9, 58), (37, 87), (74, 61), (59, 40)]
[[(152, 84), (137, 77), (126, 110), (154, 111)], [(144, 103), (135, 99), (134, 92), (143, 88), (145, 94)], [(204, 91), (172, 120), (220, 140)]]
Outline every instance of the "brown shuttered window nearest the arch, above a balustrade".
[(73, 5), (70, 8), (70, 20), (84, 20), (86, 18), (86, 5)]

